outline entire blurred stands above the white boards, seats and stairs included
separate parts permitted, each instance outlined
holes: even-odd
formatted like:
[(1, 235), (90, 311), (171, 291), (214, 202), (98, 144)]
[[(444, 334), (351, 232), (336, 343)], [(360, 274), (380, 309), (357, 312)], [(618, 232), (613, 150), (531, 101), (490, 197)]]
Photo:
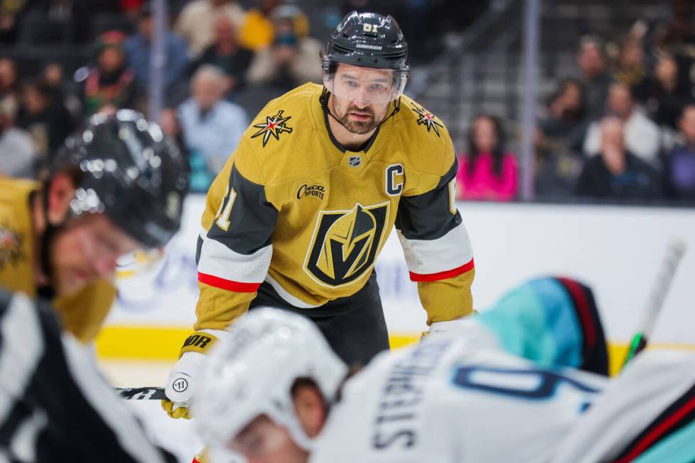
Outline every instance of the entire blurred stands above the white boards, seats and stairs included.
[(401, 24), (406, 94), (449, 128), (460, 199), (695, 204), (691, 0), (0, 0), (0, 172), (31, 177), (128, 107), (204, 192), (269, 99), (321, 81), (353, 9)]

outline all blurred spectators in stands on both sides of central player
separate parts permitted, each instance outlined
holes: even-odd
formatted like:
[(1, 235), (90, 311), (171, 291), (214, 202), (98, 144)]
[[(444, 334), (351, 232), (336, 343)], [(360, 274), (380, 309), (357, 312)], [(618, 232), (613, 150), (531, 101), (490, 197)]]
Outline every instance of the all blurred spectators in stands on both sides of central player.
[[(192, 188), (206, 191), (269, 99), (321, 82), (322, 44), (294, 2), (168, 3), (165, 108), (156, 117), (189, 155)], [(398, 9), (399, 2), (391, 3), (389, 9)], [(340, 13), (386, 8), (367, 0), (342, 4)], [(622, 38), (582, 38), (578, 74), (562, 79), (539, 113), (537, 197), (695, 203), (695, 25), (692, 2), (673, 4), (672, 21), (655, 31), (638, 23)], [(398, 11), (405, 29), (433, 17), (433, 6), (408, 5)], [(106, 20), (94, 26), (92, 19), (87, 27), (95, 12)], [(153, 13), (143, 0), (0, 0), (2, 45), (62, 40), (93, 50), (77, 71), (46, 60), (32, 75), (20, 75), (17, 60), (0, 53), (0, 174), (35, 176), (91, 114), (147, 113)], [(423, 35), (431, 22), (421, 20)], [(56, 23), (60, 30), (52, 30)], [(413, 60), (423, 61), (426, 41), (408, 34)], [(460, 155), (460, 199), (518, 199), (520, 165), (506, 134), (511, 122), (491, 114), (474, 118)]]

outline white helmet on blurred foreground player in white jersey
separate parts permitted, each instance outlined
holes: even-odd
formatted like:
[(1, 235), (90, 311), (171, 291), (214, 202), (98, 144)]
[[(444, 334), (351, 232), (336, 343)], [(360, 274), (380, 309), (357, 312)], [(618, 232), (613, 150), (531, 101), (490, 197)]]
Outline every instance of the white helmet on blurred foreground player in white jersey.
[(311, 450), (291, 387), (297, 378), (311, 378), (332, 403), (347, 366), (311, 320), (289, 311), (257, 308), (228, 330), (229, 338), (218, 342), (201, 367), (201, 389), (191, 403), (201, 437), (223, 447), (265, 414)]

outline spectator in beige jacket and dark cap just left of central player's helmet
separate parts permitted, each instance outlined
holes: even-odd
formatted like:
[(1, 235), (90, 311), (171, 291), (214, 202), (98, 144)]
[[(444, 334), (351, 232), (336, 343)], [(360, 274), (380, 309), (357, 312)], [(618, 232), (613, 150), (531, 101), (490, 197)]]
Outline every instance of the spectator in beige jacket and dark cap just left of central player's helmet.
[[(304, 18), (304, 19), (301, 19)], [(306, 82), (321, 82), (321, 43), (298, 25), (306, 16), (294, 5), (272, 12), (274, 43), (256, 52), (248, 72), (250, 84), (265, 84), (289, 91)]]

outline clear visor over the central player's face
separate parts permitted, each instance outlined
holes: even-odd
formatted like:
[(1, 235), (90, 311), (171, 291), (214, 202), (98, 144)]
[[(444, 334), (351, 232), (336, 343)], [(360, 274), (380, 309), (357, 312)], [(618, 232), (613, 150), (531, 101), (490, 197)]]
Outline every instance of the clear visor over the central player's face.
[(403, 94), (408, 80), (407, 71), (373, 69), (351, 65), (323, 69), (323, 85), (340, 99), (355, 104), (384, 104)]

